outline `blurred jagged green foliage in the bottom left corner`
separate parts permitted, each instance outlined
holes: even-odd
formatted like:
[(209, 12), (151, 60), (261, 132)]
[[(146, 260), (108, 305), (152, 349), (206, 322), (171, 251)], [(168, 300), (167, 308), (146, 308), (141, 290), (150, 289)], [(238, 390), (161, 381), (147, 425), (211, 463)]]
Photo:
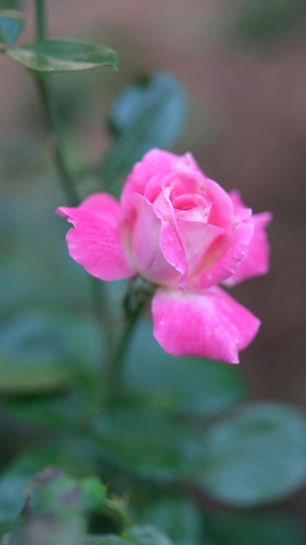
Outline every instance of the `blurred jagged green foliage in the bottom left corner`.
[[(28, 462), (23, 472), (30, 469)], [(16, 468), (21, 470), (22, 464)], [(106, 487), (94, 477), (79, 480), (48, 467), (32, 478), (23, 495), (20, 515), (1, 545), (172, 545), (154, 526), (131, 525), (123, 502), (108, 499)], [(123, 537), (87, 534), (91, 512), (101, 516), (107, 506), (111, 515), (113, 510), (118, 513), (119, 505), (124, 513), (120, 518)]]

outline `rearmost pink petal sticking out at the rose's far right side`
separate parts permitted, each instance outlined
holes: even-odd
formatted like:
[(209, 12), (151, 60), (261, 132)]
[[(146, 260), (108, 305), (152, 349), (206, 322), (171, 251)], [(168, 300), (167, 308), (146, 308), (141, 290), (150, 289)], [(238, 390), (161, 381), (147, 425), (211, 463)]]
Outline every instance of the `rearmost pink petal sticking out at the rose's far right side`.
[(239, 282), (243, 282), (243, 280), (264, 275), (268, 272), (270, 244), (265, 229), (271, 220), (272, 214), (270, 212), (262, 212), (252, 217), (254, 224), (253, 237), (235, 274), (224, 282), (227, 286), (235, 286)]

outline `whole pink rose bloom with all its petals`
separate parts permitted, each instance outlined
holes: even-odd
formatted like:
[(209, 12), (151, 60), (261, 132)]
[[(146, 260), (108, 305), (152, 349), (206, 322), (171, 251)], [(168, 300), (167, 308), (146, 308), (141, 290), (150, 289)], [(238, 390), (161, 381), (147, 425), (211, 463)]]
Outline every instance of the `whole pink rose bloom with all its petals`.
[(260, 320), (218, 286), (265, 274), (271, 214), (252, 214), (193, 156), (152, 149), (128, 176), (120, 203), (96, 193), (61, 207), (74, 228), (69, 253), (91, 275), (141, 275), (157, 284), (154, 336), (170, 354), (238, 363)]

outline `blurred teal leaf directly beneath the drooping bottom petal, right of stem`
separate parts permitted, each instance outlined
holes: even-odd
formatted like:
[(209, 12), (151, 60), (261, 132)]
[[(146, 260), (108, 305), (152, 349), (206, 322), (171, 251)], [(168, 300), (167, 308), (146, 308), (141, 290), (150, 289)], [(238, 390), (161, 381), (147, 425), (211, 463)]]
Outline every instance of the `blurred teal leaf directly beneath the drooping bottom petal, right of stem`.
[(139, 324), (125, 365), (125, 381), (150, 392), (158, 405), (168, 404), (188, 416), (215, 416), (248, 394), (241, 371), (218, 361), (174, 358), (152, 334), (149, 320)]

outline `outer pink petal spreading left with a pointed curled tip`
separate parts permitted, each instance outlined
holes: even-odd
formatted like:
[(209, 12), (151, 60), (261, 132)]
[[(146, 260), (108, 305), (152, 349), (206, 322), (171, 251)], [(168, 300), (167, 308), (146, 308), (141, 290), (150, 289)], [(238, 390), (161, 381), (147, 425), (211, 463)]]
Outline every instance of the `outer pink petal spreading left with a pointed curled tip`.
[(79, 207), (56, 211), (74, 226), (66, 240), (70, 256), (101, 280), (121, 280), (136, 274), (120, 229), (120, 205), (106, 193), (91, 195)]

